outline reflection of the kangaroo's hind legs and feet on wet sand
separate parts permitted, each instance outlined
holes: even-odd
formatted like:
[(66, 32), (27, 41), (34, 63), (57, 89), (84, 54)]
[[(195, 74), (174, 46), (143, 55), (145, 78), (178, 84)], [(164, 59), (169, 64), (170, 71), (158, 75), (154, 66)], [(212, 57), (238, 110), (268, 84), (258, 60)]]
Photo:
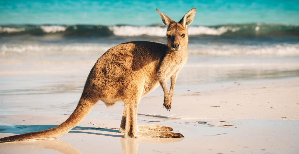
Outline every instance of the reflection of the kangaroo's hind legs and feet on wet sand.
[(137, 154), (138, 146), (140, 143), (154, 143), (154, 144), (167, 144), (172, 142), (180, 142), (184, 138), (140, 138), (140, 139), (124, 139), (120, 138), (121, 147), (123, 149), (123, 154)]

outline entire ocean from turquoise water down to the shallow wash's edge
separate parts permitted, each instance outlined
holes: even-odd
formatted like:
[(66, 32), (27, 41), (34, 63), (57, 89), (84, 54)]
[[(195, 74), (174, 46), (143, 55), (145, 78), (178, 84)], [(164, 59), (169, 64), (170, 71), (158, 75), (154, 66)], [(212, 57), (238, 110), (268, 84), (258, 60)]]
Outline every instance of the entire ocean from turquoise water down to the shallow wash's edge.
[(268, 0), (1, 1), (0, 74), (3, 83), (17, 74), (80, 76), (84, 82), (115, 45), (166, 43), (155, 8), (179, 21), (196, 7), (189, 59), (177, 84), (299, 76), (298, 6)]

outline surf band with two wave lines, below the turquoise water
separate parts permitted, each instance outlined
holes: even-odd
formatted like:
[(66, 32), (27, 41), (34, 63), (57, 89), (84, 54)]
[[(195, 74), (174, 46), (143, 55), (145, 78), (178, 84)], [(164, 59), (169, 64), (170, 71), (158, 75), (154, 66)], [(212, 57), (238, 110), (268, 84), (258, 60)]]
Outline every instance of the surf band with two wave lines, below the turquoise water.
[[(105, 52), (134, 40), (165, 41), (166, 26), (0, 26), (2, 55), (35, 50)], [(189, 26), (189, 53), (202, 55), (298, 56), (299, 26), (267, 23)], [(31, 43), (31, 44), (30, 44)], [(67, 48), (76, 44), (76, 49)], [(88, 44), (88, 45), (87, 45)]]

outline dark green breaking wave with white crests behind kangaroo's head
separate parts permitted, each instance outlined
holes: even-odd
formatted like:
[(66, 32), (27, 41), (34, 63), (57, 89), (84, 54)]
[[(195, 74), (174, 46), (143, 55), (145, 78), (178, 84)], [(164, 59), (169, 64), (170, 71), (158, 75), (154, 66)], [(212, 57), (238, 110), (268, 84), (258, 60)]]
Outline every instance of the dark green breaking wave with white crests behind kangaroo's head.
[[(157, 36), (164, 37), (166, 26), (101, 26), (101, 25), (14, 25), (0, 26), (0, 34), (10, 35), (79, 35), (79, 36)], [(229, 36), (298, 36), (298, 25), (267, 23), (228, 24), (218, 26), (189, 26), (189, 36), (229, 35)]]

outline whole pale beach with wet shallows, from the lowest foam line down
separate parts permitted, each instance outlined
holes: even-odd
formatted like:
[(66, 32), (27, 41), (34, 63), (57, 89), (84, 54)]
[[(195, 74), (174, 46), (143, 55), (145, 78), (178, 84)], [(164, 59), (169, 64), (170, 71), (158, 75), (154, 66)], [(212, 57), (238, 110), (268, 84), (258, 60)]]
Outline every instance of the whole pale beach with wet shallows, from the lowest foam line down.
[[(0, 71), (1, 138), (52, 128), (74, 110), (98, 54), (55, 56), (2, 57), (7, 67)], [(267, 57), (242, 63), (223, 57), (226, 65), (217, 66), (193, 59), (207, 57), (190, 56), (170, 111), (163, 108), (161, 87), (138, 106), (138, 125), (170, 126), (184, 138), (123, 139), (118, 133), (123, 103), (107, 108), (98, 102), (59, 139), (1, 143), (0, 153), (298, 153), (296, 57), (284, 65), (269, 64)]]

